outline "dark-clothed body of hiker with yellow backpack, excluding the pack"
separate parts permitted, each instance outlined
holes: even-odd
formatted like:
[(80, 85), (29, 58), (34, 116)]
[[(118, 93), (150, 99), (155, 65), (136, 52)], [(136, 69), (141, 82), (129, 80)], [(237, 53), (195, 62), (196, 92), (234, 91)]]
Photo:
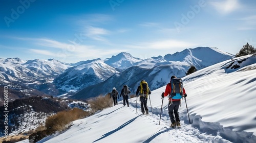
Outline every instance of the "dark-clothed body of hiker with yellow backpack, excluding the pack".
[[(142, 82), (145, 82), (145, 80), (141, 80), (141, 83)], [(141, 85), (138, 86), (137, 91), (136, 91), (136, 95), (140, 96), (140, 107), (141, 107), (142, 114), (145, 114), (145, 111), (146, 111), (146, 114), (148, 114), (148, 108), (147, 108), (147, 105), (146, 105), (148, 94), (151, 94), (150, 87), (147, 86), (147, 92), (144, 94), (142, 89), (141, 89)]]

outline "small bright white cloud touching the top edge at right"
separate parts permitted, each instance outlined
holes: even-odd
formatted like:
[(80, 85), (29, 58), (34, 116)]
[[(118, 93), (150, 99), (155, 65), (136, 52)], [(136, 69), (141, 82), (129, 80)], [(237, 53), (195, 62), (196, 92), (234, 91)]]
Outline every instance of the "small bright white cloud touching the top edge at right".
[(212, 5), (221, 14), (229, 14), (241, 7), (241, 4), (239, 4), (238, 0), (210, 2), (209, 4)]

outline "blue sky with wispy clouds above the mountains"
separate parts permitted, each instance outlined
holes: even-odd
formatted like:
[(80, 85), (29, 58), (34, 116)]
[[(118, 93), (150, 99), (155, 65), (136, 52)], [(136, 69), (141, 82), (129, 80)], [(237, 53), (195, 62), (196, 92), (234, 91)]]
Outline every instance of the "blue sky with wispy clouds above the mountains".
[(0, 57), (75, 63), (256, 46), (256, 1), (0, 0)]

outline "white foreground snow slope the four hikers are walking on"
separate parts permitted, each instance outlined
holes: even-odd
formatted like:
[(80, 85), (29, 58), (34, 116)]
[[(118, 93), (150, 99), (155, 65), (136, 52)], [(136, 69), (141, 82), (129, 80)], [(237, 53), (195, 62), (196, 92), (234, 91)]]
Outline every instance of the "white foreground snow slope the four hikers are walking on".
[[(232, 62), (240, 68), (233, 69), (229, 66)], [(74, 121), (67, 131), (39, 142), (256, 142), (255, 71), (256, 57), (244, 56), (184, 77), (192, 124), (182, 100), (180, 130), (168, 127), (167, 98), (163, 99), (159, 125), (163, 86), (150, 95), (149, 116), (140, 114), (136, 98), (129, 100), (130, 107), (123, 107), (120, 101), (119, 105)]]

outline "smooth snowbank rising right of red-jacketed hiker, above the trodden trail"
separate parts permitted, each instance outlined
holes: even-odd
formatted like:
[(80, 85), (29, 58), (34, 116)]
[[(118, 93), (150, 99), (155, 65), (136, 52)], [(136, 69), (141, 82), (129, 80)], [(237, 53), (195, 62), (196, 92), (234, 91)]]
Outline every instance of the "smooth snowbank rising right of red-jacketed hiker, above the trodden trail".
[[(234, 69), (232, 65), (240, 67)], [(190, 113), (218, 122), (224, 131), (256, 135), (256, 57), (243, 56), (212, 65), (185, 77)]]

